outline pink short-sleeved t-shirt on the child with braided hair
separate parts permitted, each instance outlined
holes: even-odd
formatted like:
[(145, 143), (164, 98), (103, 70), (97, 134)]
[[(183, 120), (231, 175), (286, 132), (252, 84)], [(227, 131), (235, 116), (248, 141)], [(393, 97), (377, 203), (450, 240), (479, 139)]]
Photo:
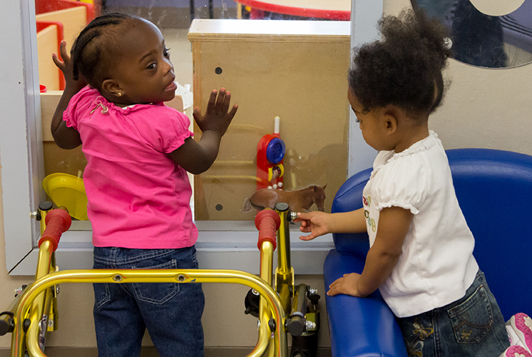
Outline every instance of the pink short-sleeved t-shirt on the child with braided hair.
[(83, 181), (94, 246), (183, 248), (198, 229), (185, 169), (168, 155), (193, 136), (185, 114), (164, 104), (120, 108), (90, 86), (63, 113), (83, 142)]

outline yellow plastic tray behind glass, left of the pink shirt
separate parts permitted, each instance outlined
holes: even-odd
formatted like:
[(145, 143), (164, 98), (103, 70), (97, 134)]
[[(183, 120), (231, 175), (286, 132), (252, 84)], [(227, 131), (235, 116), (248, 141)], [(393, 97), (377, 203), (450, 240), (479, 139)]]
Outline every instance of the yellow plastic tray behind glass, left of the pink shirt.
[(87, 221), (87, 195), (83, 178), (69, 174), (50, 174), (43, 180), (46, 194), (56, 206), (64, 206), (73, 218)]

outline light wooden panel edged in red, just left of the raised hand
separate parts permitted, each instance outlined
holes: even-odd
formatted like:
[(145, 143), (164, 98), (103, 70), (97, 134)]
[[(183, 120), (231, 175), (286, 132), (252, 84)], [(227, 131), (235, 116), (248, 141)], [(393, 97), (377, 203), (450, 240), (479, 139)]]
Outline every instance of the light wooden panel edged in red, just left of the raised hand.
[(53, 64), (52, 54), (58, 54), (57, 26), (51, 25), (37, 32), (37, 53), (39, 55), (39, 84), (46, 89), (59, 89), (59, 69)]

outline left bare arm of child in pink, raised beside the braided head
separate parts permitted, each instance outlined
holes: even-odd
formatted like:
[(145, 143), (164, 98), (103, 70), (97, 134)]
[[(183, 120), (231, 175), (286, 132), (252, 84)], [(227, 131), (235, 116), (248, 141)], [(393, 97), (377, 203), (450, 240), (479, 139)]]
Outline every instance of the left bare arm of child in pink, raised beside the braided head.
[(53, 113), (50, 129), (53, 140), (56, 141), (56, 144), (61, 149), (74, 149), (81, 145), (81, 138), (76, 129), (66, 126), (66, 123), (63, 121), (63, 111), (66, 110), (68, 102), (71, 100), (71, 98), (84, 86), (86, 86), (86, 82), (83, 79), (79, 79), (78, 81), (73, 79), (72, 60), (71, 57), (66, 53), (65, 41), (61, 42), (60, 51), (63, 61), (58, 59), (56, 54), (52, 55), (52, 60), (53, 63), (56, 64), (56, 66), (58, 66), (58, 68), (63, 72), (66, 80), (66, 86), (61, 99), (59, 99), (56, 111)]

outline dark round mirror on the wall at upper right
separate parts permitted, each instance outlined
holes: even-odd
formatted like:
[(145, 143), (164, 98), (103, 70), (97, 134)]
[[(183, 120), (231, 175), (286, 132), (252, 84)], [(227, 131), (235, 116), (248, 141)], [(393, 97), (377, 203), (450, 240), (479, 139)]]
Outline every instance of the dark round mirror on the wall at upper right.
[[(532, 61), (532, 0), (515, 9), (512, 1), (498, 1), (502, 14), (485, 14), (479, 1), (411, 0), (449, 30), (454, 59), (486, 68), (521, 66)], [(513, 1), (515, 2), (515, 1)], [(505, 4), (506, 3), (506, 4)], [(477, 7), (478, 6), (478, 7)], [(504, 11), (508, 8), (508, 11)]]

